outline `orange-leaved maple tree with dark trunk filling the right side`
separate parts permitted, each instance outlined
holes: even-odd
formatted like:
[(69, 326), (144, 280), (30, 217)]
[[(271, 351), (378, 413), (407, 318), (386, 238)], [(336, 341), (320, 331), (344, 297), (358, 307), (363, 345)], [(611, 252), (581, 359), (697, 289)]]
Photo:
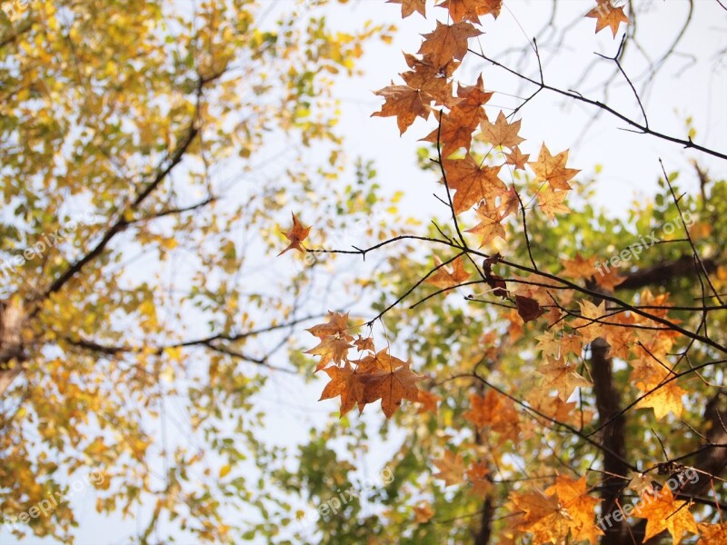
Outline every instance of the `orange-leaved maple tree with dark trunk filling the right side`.
[[(635, 29), (647, 5), (573, 2), (581, 13), (559, 27), (562, 4), (548, 3), (538, 35), (494, 56), (488, 37), (507, 0), (389, 4), (426, 17), (431, 32), (376, 91), (383, 104), (373, 115), (429, 143), (412, 191), (429, 183), (446, 213), (428, 229), (354, 248), (308, 243), (305, 223), (289, 233), (302, 254), (386, 262), (373, 314), (336, 308), (307, 330), (310, 371), (324, 379), (322, 400), (339, 398), (341, 421), (278, 478), (314, 505), (344, 489), (355, 480), (354, 445), (370, 437), (352, 413), (380, 401), (383, 437), (401, 434), (395, 479), (374, 498), (380, 516), (355, 503), (325, 510), (316, 540), (727, 542), (727, 152), (723, 134), (689, 122), (663, 129), (647, 100), (656, 74), (682, 54), (693, 12), (723, 22), (724, 5), (687, 3), (661, 50)], [(676, 3), (663, 9), (677, 18)], [(569, 42), (577, 26), (608, 38), (584, 67), (583, 78), (601, 78), (591, 92), (585, 79), (553, 83), (549, 70), (561, 50), (596, 49)], [(638, 79), (637, 54), (647, 66)], [(723, 70), (724, 48), (710, 54)], [(513, 88), (488, 86), (500, 73)], [(640, 157), (658, 193), (628, 213), (603, 213), (593, 197), (600, 168), (521, 128), (546, 94), (586, 109), (592, 124), (616, 122), (629, 138), (666, 146), (668, 155)], [(613, 134), (605, 164), (619, 161)], [(681, 158), (693, 167), (680, 173)], [(336, 439), (350, 439), (350, 452), (335, 450)]]

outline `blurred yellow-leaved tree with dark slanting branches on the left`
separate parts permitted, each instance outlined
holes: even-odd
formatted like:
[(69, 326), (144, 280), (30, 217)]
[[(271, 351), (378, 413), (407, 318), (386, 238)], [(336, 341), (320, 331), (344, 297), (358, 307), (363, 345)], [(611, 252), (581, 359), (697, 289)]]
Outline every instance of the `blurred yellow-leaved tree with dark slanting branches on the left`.
[[(2, 531), (71, 542), (73, 502), (37, 506), (89, 471), (135, 541), (277, 531), (234, 471), (274, 456), (253, 398), (295, 372), (271, 357), (307, 318), (271, 290), (276, 223), (343, 172), (329, 90), (390, 32), (334, 30), (323, 4), (3, 2)], [(330, 213), (340, 191), (306, 219), (376, 201)]]

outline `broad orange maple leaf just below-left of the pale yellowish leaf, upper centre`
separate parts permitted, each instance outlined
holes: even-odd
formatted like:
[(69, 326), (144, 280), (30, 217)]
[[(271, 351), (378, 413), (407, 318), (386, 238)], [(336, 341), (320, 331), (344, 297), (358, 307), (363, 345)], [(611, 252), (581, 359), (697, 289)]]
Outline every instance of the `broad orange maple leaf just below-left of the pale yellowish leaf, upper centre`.
[(443, 164), (447, 184), (456, 192), (452, 199), (454, 213), (466, 212), (483, 200), (494, 201), (507, 191), (507, 186), (497, 176), (502, 165), (480, 166), (470, 154), (464, 159), (444, 159)]

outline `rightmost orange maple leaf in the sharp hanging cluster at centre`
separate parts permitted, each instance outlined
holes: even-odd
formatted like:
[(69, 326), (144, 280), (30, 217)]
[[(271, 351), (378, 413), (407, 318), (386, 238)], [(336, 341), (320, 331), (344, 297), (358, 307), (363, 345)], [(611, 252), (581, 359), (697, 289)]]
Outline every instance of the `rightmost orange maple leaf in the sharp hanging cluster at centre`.
[[(379, 354), (376, 357), (379, 359)], [(393, 357), (389, 357), (389, 361), (402, 362)], [(392, 363), (390, 371), (366, 372), (360, 379), (364, 384), (364, 404), (381, 400), (381, 408), (386, 418), (392, 417), (403, 400), (419, 400), (416, 382), (421, 381), (422, 377), (409, 369), (409, 363), (402, 363), (403, 365), (395, 368)]]

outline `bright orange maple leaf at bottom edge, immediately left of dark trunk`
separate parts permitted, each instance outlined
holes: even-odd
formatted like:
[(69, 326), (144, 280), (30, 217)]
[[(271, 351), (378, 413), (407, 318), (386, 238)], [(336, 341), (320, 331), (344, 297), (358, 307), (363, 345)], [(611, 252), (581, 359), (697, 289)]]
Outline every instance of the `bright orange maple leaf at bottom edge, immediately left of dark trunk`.
[(564, 475), (558, 475), (555, 478), (555, 484), (547, 488), (545, 493), (555, 492), (562, 509), (567, 511), (573, 541), (588, 540), (591, 545), (595, 545), (598, 542), (598, 536), (603, 536), (603, 531), (593, 523), (595, 506), (602, 500), (589, 496), (587, 489), (585, 475), (577, 481)]

